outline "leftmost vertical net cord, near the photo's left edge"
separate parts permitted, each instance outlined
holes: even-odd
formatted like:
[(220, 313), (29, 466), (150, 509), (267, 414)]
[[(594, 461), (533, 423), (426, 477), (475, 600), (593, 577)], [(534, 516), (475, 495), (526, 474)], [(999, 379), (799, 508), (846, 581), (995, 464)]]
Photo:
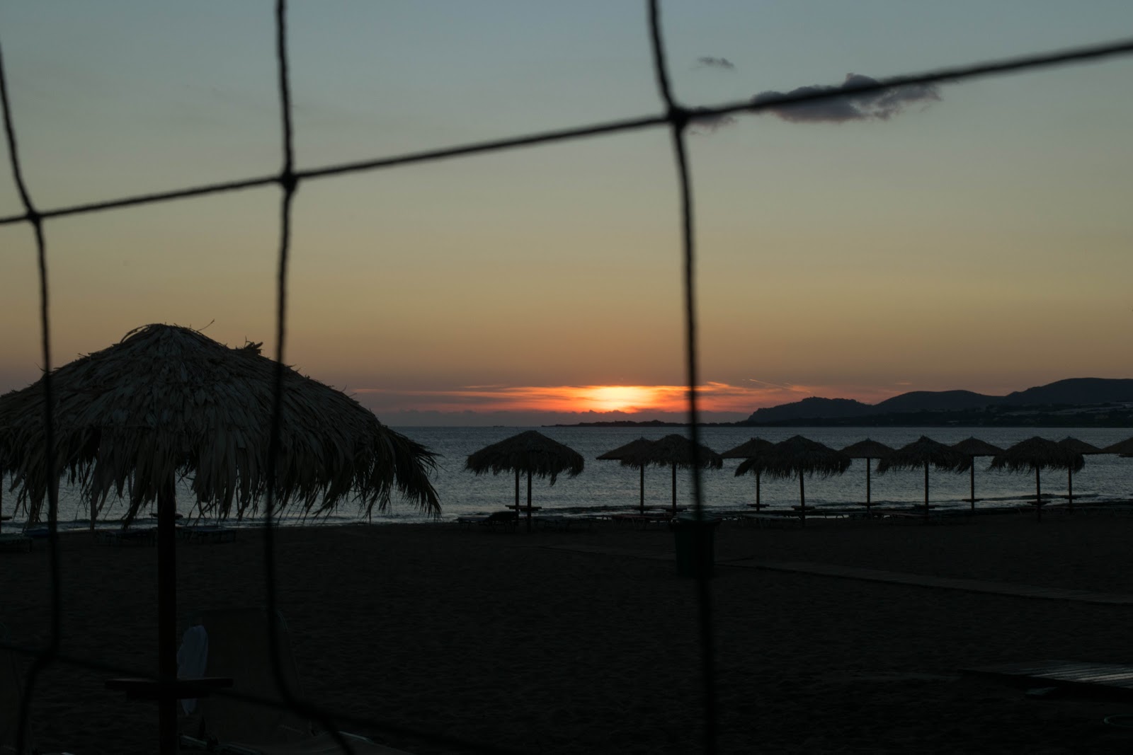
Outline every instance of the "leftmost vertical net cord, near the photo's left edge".
[[(28, 711), (31, 710), (32, 693), (40, 672), (50, 666), (59, 655), (60, 634), (62, 624), (62, 600), (60, 586), (60, 558), (59, 558), (59, 535), (56, 532), (56, 518), (59, 513), (59, 480), (57, 478), (57, 449), (54, 432), (54, 394), (51, 389), (51, 323), (49, 317), (48, 297), (48, 250), (43, 235), (43, 217), (36, 212), (32, 204), (27, 185), (24, 182), (24, 172), (19, 164), (19, 149), (16, 145), (16, 129), (11, 122), (11, 104), (8, 98), (8, 77), (3, 68), (3, 55), (0, 53), (0, 103), (3, 105), (5, 136), (8, 141), (8, 160), (11, 163), (11, 174), (16, 182), (16, 190), (24, 205), (27, 222), (35, 230), (35, 249), (40, 275), (40, 333), (41, 348), (43, 350), (43, 443), (46, 445), (44, 454), (48, 464), (48, 559), (51, 573), (51, 637), (48, 644), (35, 655), (32, 667), (27, 674), (27, 681), (24, 694), (20, 695), (19, 703), (19, 726), (16, 732), (16, 749), (19, 753), (31, 752), (28, 747)], [(0, 479), (2, 483), (2, 479)]]

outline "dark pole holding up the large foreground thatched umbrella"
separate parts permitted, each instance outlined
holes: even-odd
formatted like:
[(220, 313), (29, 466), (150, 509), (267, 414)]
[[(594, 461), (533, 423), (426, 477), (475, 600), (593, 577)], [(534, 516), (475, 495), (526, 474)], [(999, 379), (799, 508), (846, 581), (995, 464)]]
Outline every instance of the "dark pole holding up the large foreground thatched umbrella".
[(157, 721), (162, 753), (177, 752), (177, 500), (172, 480), (157, 494)]

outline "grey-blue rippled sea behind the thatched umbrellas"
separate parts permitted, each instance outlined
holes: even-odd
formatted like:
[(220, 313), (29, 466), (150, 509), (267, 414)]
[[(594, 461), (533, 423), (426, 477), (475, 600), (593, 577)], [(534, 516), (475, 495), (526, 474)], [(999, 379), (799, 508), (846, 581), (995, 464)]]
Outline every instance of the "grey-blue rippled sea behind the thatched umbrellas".
[[(554, 484), (547, 479), (535, 478), (531, 483), (531, 504), (539, 506), (540, 514), (579, 516), (611, 511), (627, 511), (639, 503), (639, 471), (622, 466), (619, 462), (598, 461), (596, 457), (622, 446), (636, 438), (657, 439), (670, 434), (685, 434), (679, 427), (403, 427), (398, 431), (417, 440), (437, 454), (436, 471), (432, 475), (441, 501), (440, 520), (429, 517), (412, 504), (397, 497), (385, 512), (363, 513), (357, 503), (347, 500), (331, 515), (307, 516), (299, 511), (284, 511), (278, 523), (288, 525), (334, 525), (351, 522), (372, 524), (445, 522), (459, 516), (477, 515), (501, 511), (514, 503), (516, 479), (510, 472), (500, 475), (476, 475), (465, 470), (469, 454), (493, 443), (509, 438), (523, 430), (535, 429), (563, 443), (582, 455), (585, 470), (577, 477), (560, 475)], [(1005, 448), (1032, 436), (1060, 440), (1067, 436), (1084, 440), (1098, 447), (1111, 445), (1133, 435), (1125, 428), (750, 428), (750, 427), (705, 427), (700, 429), (700, 440), (716, 452), (724, 452), (741, 443), (760, 437), (770, 441), (784, 440), (801, 435), (824, 443), (832, 448), (843, 448), (850, 444), (871, 438), (894, 448), (928, 436), (934, 440), (953, 444), (976, 436), (993, 445)], [(989, 470), (988, 457), (976, 460), (976, 497), (978, 508), (1019, 506), (1034, 499), (1034, 474), (1011, 473)], [(709, 514), (750, 511), (755, 503), (756, 480), (753, 475), (735, 477), (740, 460), (725, 460), (721, 470), (705, 470), (701, 475), (702, 503)], [(876, 461), (870, 474), (871, 501), (881, 506), (911, 506), (925, 500), (925, 475), (922, 471), (891, 471), (879, 474)], [(646, 506), (670, 506), (672, 503), (672, 473), (668, 467), (650, 466), (645, 475)], [(26, 517), (14, 512), (15, 496), (5, 481), (3, 514), (15, 514), (5, 527), (19, 525)], [(191, 480), (182, 480), (178, 489), (178, 512), (186, 521), (212, 523), (202, 517), (190, 492)], [(1041, 474), (1043, 497), (1057, 500), (1067, 491), (1065, 471), (1043, 471)], [(804, 480), (807, 506), (845, 506), (866, 500), (866, 460), (854, 460), (842, 475), (830, 478), (807, 478)], [(1102, 501), (1130, 499), (1133, 497), (1133, 458), (1115, 454), (1090, 455), (1085, 457), (1085, 469), (1074, 474), (1075, 501)], [(969, 507), (969, 472), (952, 473), (930, 471), (929, 498), (940, 509)], [(521, 503), (527, 500), (527, 480), (520, 484)], [(760, 499), (776, 508), (789, 508), (799, 503), (799, 480), (763, 479)], [(678, 506), (692, 505), (692, 473), (678, 470)], [(99, 524), (110, 526), (125, 512), (125, 501), (108, 501), (100, 514)], [(137, 522), (144, 526), (148, 517)], [(241, 521), (225, 521), (235, 526), (257, 526), (261, 516), (246, 516)], [(59, 496), (60, 529), (80, 529), (90, 524), (87, 508), (77, 488), (63, 486)]]

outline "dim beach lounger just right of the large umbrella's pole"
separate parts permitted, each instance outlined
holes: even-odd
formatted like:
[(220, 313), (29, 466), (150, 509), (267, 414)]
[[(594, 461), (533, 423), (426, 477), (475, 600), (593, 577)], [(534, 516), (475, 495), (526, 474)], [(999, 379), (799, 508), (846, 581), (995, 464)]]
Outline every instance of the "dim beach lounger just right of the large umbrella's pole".
[[(235, 692), (281, 703), (267, 647), (266, 616), (262, 609), (201, 614), (201, 625), (208, 633), (205, 676), (231, 677)], [(301, 696), (287, 624), (278, 612), (273, 620), (279, 629), (283, 678), (289, 689)], [(196, 747), (235, 755), (342, 752), (332, 735), (316, 732), (313, 722), (289, 709), (232, 700), (221, 694), (202, 697), (197, 705), (201, 718), (195, 732), (203, 731), (204, 736), (182, 735), (182, 749)], [(359, 755), (404, 755), (402, 750), (384, 747), (365, 737), (343, 735)]]

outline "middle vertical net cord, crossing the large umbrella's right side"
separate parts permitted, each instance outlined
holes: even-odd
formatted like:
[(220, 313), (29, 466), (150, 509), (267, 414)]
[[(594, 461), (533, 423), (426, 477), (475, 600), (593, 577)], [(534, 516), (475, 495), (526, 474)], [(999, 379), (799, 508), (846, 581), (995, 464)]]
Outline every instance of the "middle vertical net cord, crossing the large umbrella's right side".
[(283, 702), (296, 712), (315, 719), (326, 730), (343, 753), (353, 753), (346, 737), (338, 731), (331, 718), (321, 709), (299, 700), (283, 677), (280, 659), (279, 624), (275, 621), (275, 488), (279, 474), (279, 453), (283, 414), (283, 345), (287, 337), (287, 280), (291, 250), (291, 207), (299, 181), (295, 175), (293, 131), (291, 128), (291, 87), (288, 78), (287, 54), (287, 0), (275, 2), (275, 57), (279, 69), (280, 113), (283, 128), (283, 169), (279, 183), (283, 189), (280, 206), (280, 254), (276, 282), (275, 310), (275, 389), (272, 401), (271, 447), (267, 454), (267, 501), (264, 516), (264, 580), (266, 582), (267, 650), (272, 659), (275, 687)]

